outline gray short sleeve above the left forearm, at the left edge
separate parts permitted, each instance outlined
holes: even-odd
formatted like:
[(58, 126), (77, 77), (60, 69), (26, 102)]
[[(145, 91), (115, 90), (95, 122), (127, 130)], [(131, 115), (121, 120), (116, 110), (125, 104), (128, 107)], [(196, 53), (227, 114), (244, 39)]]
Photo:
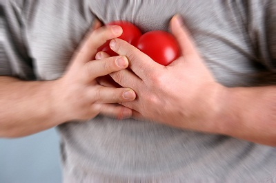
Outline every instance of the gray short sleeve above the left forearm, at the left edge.
[(0, 2), (0, 76), (34, 80), (21, 13), (23, 4), (24, 1)]

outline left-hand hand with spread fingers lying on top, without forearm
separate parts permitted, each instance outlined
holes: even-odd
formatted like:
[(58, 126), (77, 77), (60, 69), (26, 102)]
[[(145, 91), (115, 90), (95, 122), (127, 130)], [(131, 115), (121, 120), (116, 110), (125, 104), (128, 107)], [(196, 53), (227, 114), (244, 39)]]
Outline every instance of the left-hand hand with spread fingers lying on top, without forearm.
[(118, 25), (101, 27), (90, 33), (73, 58), (66, 74), (56, 81), (53, 89), (55, 111), (65, 120), (88, 120), (98, 114), (116, 118), (132, 116), (132, 110), (121, 105), (135, 99), (129, 88), (103, 87), (96, 78), (128, 67), (126, 56), (115, 56), (104, 61), (91, 61), (97, 48), (122, 33)]

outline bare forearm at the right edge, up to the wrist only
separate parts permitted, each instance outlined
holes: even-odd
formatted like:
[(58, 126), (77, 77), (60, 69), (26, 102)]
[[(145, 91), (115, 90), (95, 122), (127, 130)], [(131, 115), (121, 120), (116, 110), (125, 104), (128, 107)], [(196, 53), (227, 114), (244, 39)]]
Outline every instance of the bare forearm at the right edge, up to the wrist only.
[(219, 133), (276, 146), (276, 86), (227, 89)]

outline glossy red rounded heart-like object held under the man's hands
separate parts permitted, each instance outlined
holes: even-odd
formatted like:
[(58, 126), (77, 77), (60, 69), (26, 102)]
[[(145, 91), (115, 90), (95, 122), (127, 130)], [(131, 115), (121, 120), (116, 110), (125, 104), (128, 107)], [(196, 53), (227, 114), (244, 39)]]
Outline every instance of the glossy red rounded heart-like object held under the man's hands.
[[(123, 33), (119, 39), (127, 41), (131, 45), (137, 47), (144, 52), (153, 61), (161, 65), (169, 65), (179, 57), (179, 47), (175, 37), (168, 32), (161, 30), (153, 30), (141, 34), (141, 31), (132, 23), (127, 21), (112, 21), (107, 25), (119, 25), (123, 29)], [(110, 56), (117, 56), (109, 47), (110, 41), (99, 47), (99, 51), (108, 53)]]

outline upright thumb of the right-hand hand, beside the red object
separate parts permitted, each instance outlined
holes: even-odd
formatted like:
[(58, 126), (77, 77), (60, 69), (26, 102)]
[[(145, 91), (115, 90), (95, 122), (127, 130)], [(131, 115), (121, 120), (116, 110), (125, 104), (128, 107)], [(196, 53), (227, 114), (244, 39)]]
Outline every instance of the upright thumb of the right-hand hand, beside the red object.
[(195, 47), (195, 43), (193, 42), (190, 33), (183, 25), (179, 14), (176, 14), (170, 20), (170, 28), (172, 30), (172, 34), (177, 39), (182, 56), (197, 56), (198, 52)]

